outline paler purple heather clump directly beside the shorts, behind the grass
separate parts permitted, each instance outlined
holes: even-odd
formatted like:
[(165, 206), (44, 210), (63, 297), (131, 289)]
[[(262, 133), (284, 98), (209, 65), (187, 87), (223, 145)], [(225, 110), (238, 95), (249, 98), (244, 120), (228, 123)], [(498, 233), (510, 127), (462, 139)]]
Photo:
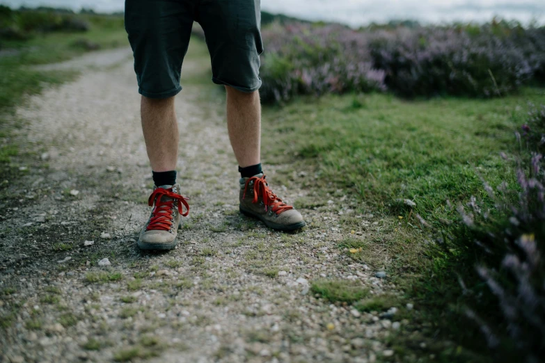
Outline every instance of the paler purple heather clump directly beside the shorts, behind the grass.
[(385, 90), (384, 71), (374, 69), (367, 38), (340, 25), (278, 24), (263, 32), (264, 101), (297, 94)]

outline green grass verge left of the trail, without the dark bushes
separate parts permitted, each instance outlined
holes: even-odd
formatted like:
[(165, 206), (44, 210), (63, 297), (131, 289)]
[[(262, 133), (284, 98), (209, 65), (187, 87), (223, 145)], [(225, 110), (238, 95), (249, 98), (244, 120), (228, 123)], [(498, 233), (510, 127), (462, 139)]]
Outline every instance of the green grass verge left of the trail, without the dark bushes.
[[(0, 57), (0, 179), (12, 180), (15, 168), (9, 166), (13, 156), (19, 154), (17, 145), (10, 143), (11, 129), (8, 120), (13, 118), (13, 110), (24, 97), (35, 95), (47, 86), (55, 86), (74, 79), (74, 71), (43, 72), (31, 66), (66, 61), (86, 52), (74, 47), (77, 40), (88, 40), (101, 49), (128, 45), (127, 33), (123, 27), (123, 17), (102, 15), (78, 15), (90, 24), (85, 33), (47, 33), (34, 34), (29, 40), (1, 40), (2, 49), (16, 49), (12, 55)], [(13, 123), (13, 122), (12, 122)]]

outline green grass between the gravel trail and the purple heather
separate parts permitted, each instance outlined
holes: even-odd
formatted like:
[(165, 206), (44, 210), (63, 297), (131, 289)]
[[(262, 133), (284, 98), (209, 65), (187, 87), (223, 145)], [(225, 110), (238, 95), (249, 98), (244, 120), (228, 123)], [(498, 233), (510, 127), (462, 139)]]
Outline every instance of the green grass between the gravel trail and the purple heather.
[[(340, 241), (338, 248), (355, 261), (386, 268), (388, 279), (405, 291), (396, 299), (421, 307), (411, 319), (414, 328), (427, 326), (422, 329), (427, 337), (439, 334), (464, 351), (478, 352), (486, 344), (475, 325), (464, 318), (466, 297), (458, 274), (475, 280), (473, 266), (479, 256), (434, 247), (416, 215), (448, 236), (452, 221), (458, 218), (455, 207), (472, 195), (484, 200), (484, 209), (493, 210), (482, 179), (492, 188), (502, 181), (515, 185), (509, 177), (511, 167), (500, 152), (513, 151), (513, 133), (520, 127), (518, 120), (527, 103), (543, 103), (544, 94), (543, 89), (526, 88), (502, 99), (413, 102), (381, 94), (301, 97), (284, 107), (264, 108), (263, 119), (275, 120), (264, 122), (268, 135), (263, 139), (264, 162), (288, 164), (292, 170), (317, 175), (290, 179), (313, 191), (312, 197), (296, 201), (300, 208), (339, 209), (344, 195), (355, 197), (357, 204), (347, 207), (363, 218), (343, 216), (341, 227), (367, 233), (361, 241)], [(330, 199), (333, 207), (325, 207)], [(405, 204), (405, 199), (416, 206)], [(448, 207), (447, 200), (454, 208)], [(374, 218), (368, 220), (368, 213), (374, 213)], [(364, 225), (364, 220), (369, 223)], [(313, 291), (338, 300), (334, 284), (315, 283)], [(369, 311), (392, 306), (390, 298), (348, 300), (357, 309)], [(442, 360), (452, 357), (441, 348), (435, 353)]]

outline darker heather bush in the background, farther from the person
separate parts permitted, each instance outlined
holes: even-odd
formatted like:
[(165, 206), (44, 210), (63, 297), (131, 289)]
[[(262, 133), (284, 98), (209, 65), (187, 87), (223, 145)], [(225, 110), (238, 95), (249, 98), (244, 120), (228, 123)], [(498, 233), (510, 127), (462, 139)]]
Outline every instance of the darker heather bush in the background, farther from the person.
[(403, 97), (500, 96), (535, 72), (515, 42), (489, 31), (402, 29), (374, 40), (371, 54), (388, 88)]

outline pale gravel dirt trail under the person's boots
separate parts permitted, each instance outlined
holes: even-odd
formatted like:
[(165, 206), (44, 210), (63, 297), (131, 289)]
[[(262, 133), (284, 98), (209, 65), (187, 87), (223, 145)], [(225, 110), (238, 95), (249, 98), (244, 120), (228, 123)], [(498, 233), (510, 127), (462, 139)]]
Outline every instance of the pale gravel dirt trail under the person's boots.
[[(184, 72), (203, 81), (176, 101), (191, 213), (171, 252), (135, 245), (152, 180), (131, 61), (87, 71), (17, 111), (31, 156), (1, 205), (0, 362), (363, 363), (393, 354), (384, 341), (395, 318), (310, 290), (320, 278), (391, 289), (338, 249), (350, 234), (338, 211), (305, 209), (309, 227), (298, 234), (239, 215), (224, 99), (209, 61), (191, 52)], [(88, 57), (100, 64), (100, 54)], [(294, 202), (308, 193), (275, 184), (278, 168), (287, 166), (267, 168), (278, 194)]]

